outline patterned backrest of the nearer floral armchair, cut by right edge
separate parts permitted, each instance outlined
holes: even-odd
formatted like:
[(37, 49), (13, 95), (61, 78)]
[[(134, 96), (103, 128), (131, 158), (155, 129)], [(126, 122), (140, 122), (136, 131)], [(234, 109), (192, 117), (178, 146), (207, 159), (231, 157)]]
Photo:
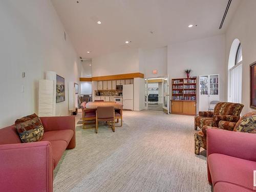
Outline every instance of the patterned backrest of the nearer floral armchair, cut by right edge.
[(256, 112), (250, 112), (241, 117), (233, 131), (256, 133)]

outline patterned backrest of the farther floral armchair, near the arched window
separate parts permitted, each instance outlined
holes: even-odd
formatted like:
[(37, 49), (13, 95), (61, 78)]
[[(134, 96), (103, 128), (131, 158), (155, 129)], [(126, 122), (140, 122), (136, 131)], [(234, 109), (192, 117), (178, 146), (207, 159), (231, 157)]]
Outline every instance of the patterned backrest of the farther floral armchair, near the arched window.
[(219, 102), (215, 105), (215, 115), (236, 115), (240, 116), (244, 105), (241, 103)]

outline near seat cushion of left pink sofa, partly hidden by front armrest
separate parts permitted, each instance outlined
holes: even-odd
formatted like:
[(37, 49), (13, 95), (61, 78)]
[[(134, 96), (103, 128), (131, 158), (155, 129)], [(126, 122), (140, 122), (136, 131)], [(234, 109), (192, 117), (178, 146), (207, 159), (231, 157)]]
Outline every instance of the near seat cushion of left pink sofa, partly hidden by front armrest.
[(67, 147), (67, 142), (63, 140), (50, 141), (52, 145), (52, 155), (53, 155), (53, 167), (55, 168), (61, 159), (62, 154), (65, 152)]

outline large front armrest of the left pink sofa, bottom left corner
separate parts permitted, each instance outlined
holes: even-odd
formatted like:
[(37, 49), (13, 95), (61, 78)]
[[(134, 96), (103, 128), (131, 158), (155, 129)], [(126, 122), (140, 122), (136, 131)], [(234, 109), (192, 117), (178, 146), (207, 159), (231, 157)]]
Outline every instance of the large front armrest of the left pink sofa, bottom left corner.
[(49, 141), (0, 145), (0, 191), (53, 191)]

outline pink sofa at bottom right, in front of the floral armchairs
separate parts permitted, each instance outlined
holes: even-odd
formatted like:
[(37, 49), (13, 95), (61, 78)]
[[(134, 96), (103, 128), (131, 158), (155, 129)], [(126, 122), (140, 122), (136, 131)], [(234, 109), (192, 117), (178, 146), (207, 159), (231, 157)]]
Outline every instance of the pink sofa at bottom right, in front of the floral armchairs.
[(215, 192), (254, 191), (256, 134), (207, 129), (207, 168)]

